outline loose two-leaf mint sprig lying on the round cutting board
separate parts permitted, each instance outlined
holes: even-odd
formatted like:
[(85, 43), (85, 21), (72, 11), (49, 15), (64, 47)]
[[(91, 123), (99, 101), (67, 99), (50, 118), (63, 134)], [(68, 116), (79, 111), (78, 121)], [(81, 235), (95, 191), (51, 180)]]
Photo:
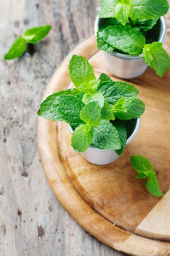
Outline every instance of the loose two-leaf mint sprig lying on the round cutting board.
[(156, 172), (153, 171), (153, 166), (150, 161), (141, 155), (134, 155), (130, 157), (130, 161), (134, 170), (139, 173), (137, 178), (144, 179), (148, 177), (146, 182), (148, 191), (150, 191), (152, 195), (158, 197), (162, 196), (163, 193), (159, 189)]

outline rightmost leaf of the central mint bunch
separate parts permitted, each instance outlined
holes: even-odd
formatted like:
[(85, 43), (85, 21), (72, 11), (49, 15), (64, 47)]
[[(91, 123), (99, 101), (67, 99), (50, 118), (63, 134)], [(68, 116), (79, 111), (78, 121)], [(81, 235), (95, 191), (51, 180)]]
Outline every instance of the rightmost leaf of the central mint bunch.
[(132, 99), (125, 99), (123, 105), (121, 106), (121, 100), (116, 103), (112, 110), (114, 115), (121, 119), (121, 120), (129, 120), (132, 118), (140, 117), (143, 115), (145, 110), (145, 105), (143, 101), (140, 99), (132, 98)]

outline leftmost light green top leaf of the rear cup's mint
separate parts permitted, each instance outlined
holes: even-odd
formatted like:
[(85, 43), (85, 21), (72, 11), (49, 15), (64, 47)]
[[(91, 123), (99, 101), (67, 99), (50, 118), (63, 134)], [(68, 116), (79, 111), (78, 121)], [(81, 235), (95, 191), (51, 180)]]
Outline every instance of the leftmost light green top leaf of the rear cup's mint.
[(98, 9), (98, 16), (100, 18), (113, 18), (114, 9), (121, 0), (100, 0), (100, 5)]

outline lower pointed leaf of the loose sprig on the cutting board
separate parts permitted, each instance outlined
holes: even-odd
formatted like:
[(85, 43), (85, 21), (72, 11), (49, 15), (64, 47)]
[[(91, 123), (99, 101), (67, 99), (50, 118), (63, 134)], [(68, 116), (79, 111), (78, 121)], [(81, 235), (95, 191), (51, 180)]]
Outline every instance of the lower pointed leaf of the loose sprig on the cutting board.
[(159, 189), (159, 184), (158, 184), (158, 181), (157, 181), (157, 175), (154, 171), (152, 171), (151, 175), (148, 177), (148, 180), (146, 182), (146, 187), (152, 195), (155, 195), (155, 196), (162, 196), (163, 195), (163, 193)]

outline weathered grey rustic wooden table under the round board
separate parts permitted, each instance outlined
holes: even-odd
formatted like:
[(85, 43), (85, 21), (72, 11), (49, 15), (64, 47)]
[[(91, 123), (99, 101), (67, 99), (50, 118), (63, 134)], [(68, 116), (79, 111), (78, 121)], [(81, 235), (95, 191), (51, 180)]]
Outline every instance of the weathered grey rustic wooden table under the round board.
[[(93, 34), (99, 0), (0, 2), (0, 255), (125, 256), (99, 242), (63, 209), (45, 178), (37, 111), (63, 58)], [(168, 16), (168, 15), (167, 15)], [(49, 24), (33, 56), (4, 61), (27, 28)], [(170, 24), (168, 24), (170, 33)]]

